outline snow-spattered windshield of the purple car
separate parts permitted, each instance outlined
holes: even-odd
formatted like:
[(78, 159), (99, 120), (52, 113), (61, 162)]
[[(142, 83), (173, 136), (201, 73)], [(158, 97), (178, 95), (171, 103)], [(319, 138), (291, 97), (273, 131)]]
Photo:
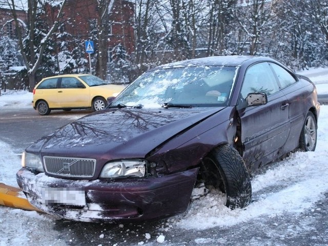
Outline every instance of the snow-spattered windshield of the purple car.
[(166, 68), (146, 72), (111, 106), (227, 106), (236, 67)]

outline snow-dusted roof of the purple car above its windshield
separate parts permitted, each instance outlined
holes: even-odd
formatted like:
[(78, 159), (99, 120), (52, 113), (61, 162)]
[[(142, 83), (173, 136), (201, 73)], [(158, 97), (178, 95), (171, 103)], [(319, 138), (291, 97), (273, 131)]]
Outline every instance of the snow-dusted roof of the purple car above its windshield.
[(197, 66), (236, 67), (242, 65), (243, 63), (245, 63), (245, 61), (251, 61), (251, 63), (253, 63), (255, 61), (260, 61), (260, 60), (273, 60), (273, 59), (263, 56), (252, 56), (252, 55), (210, 56), (210, 57), (196, 58), (190, 60), (176, 61), (175, 63), (161, 65), (151, 70), (176, 68), (176, 67), (197, 67)]

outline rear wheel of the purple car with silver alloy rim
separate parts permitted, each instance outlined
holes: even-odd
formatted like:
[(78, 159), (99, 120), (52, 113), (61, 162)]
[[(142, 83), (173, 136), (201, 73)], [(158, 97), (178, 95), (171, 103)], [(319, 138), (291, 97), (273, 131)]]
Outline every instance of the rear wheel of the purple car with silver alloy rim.
[(302, 151), (315, 151), (317, 146), (317, 121), (312, 112), (308, 112), (299, 137), (299, 147)]

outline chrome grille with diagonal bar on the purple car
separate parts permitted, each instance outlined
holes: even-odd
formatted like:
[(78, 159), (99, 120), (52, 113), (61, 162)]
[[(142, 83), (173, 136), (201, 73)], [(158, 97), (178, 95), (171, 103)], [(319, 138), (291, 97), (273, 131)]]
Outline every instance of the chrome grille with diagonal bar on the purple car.
[(89, 158), (44, 156), (43, 161), (48, 173), (63, 177), (90, 178), (96, 168), (96, 160)]

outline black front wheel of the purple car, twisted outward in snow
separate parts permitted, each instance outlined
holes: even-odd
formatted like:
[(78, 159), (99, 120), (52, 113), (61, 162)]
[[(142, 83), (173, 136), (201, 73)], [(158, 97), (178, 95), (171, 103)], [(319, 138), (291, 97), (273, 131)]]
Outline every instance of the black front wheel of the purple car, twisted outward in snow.
[(206, 186), (220, 189), (224, 205), (230, 209), (244, 208), (252, 201), (250, 175), (238, 151), (229, 145), (214, 149), (202, 161), (201, 176)]

